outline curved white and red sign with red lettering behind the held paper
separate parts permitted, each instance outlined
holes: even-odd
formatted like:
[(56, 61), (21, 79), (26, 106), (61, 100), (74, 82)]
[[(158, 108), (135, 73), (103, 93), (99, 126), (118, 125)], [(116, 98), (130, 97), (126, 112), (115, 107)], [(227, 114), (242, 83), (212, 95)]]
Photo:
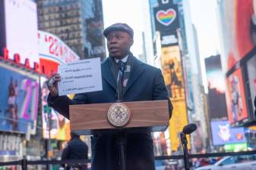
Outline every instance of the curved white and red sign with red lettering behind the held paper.
[(80, 59), (58, 36), (39, 30), (37, 38), (41, 73), (46, 75), (57, 73), (59, 64)]

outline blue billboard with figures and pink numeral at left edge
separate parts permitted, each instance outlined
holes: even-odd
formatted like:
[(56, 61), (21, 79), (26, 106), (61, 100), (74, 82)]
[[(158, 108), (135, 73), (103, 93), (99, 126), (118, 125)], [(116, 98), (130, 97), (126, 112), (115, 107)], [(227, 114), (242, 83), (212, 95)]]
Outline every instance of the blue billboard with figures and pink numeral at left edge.
[(39, 77), (0, 63), (0, 82), (0, 131), (35, 134)]

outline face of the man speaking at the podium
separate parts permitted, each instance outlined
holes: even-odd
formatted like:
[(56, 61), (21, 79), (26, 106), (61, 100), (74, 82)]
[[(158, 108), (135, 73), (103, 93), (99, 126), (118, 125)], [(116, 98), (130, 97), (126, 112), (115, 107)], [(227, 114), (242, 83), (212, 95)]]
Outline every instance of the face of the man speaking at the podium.
[(112, 31), (106, 37), (109, 56), (122, 59), (130, 51), (133, 39), (127, 32)]

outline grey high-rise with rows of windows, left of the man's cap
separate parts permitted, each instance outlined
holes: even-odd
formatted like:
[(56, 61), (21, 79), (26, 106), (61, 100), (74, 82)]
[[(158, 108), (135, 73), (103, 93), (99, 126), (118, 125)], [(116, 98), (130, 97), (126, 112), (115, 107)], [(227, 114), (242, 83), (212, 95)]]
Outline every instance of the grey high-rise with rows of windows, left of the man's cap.
[(37, 0), (36, 4), (40, 30), (58, 36), (81, 59), (105, 58), (102, 0)]

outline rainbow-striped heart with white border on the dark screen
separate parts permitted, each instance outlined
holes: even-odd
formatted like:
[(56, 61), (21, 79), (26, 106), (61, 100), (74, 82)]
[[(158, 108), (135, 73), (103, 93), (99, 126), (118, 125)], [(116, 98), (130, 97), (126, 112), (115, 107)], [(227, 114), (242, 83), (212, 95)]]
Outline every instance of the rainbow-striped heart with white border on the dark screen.
[(169, 8), (166, 11), (160, 10), (156, 12), (156, 20), (158, 20), (164, 26), (169, 26), (176, 18), (176, 12), (174, 9)]

